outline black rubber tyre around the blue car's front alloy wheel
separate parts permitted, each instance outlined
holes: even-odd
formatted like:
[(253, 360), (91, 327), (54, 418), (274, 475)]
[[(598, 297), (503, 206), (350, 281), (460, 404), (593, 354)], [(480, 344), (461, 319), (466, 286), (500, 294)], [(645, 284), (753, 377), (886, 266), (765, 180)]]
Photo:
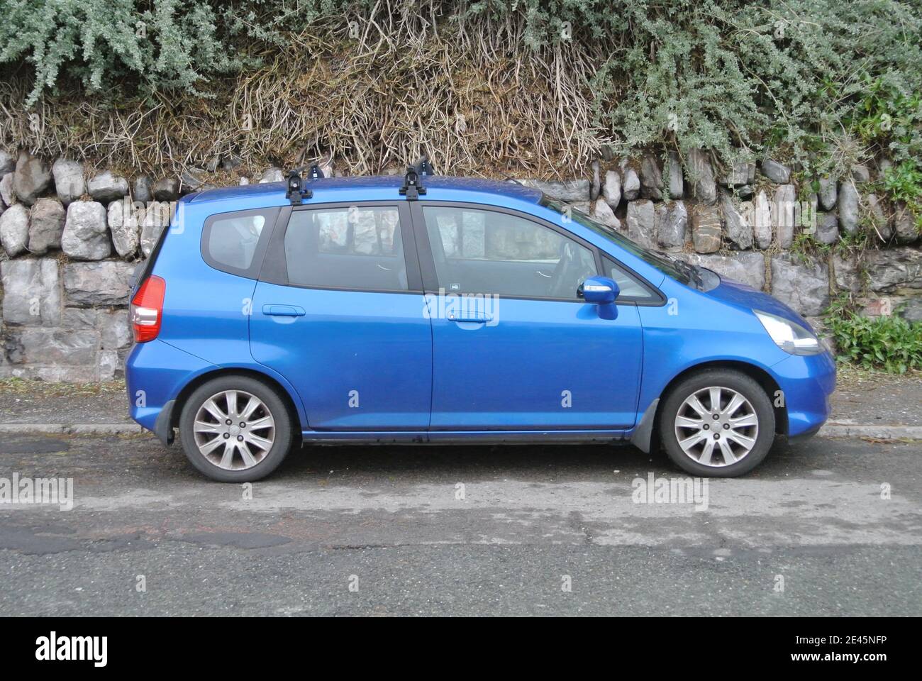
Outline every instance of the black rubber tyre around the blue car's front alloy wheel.
[[(707, 466), (692, 460), (679, 444), (676, 417), (685, 400), (698, 390), (710, 387), (730, 388), (749, 400), (758, 417), (758, 434), (749, 453), (734, 463)], [(732, 478), (744, 475), (762, 463), (774, 443), (774, 408), (765, 390), (750, 376), (732, 369), (705, 369), (682, 380), (662, 402), (659, 414), (659, 437), (669, 459), (680, 469), (703, 477)], [(687, 431), (686, 431), (687, 432)]]

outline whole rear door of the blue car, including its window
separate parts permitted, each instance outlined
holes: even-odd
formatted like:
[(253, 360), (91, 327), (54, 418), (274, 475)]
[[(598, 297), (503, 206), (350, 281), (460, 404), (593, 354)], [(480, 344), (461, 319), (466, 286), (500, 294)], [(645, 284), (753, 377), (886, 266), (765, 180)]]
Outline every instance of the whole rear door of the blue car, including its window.
[(432, 342), (406, 201), (283, 209), (256, 284), (254, 359), (313, 430), (426, 430)]

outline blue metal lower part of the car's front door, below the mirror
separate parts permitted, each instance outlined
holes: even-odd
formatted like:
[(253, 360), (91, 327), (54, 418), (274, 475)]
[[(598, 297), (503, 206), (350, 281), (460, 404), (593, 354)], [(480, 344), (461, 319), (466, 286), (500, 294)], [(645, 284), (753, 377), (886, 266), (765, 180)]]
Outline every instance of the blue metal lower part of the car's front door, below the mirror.
[(597, 305), (578, 302), (496, 305), (495, 326), (431, 316), (433, 430), (634, 424), (644, 350), (637, 307), (604, 319)]

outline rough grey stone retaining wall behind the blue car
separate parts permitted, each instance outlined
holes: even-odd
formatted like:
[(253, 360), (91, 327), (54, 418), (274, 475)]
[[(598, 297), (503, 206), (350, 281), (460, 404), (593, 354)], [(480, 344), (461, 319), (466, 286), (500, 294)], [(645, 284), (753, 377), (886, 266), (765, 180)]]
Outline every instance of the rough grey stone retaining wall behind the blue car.
[[(74, 159), (0, 149), (0, 377), (121, 376), (132, 343), (131, 274), (169, 223), (174, 202), (207, 189), (208, 174), (88, 176)], [(770, 159), (718, 173), (706, 152), (693, 151), (684, 164), (676, 154), (665, 163), (649, 154), (596, 164), (589, 179), (521, 182), (642, 245), (768, 291), (806, 317), (820, 316), (833, 295), (847, 292), (860, 296), (869, 314), (922, 319), (915, 216), (865, 191), (871, 172), (862, 166), (847, 178), (822, 180), (807, 200), (791, 178), (791, 169)], [(252, 181), (282, 179), (280, 169), (269, 168)], [(862, 263), (789, 250), (804, 232), (835, 244), (865, 215), (879, 247)]]

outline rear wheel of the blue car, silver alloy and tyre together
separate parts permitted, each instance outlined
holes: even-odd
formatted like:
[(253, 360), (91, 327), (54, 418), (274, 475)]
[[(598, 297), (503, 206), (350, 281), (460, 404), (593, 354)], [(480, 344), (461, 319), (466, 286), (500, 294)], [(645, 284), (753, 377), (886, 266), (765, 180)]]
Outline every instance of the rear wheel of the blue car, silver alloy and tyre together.
[(221, 376), (196, 388), (183, 405), (179, 428), (192, 465), (222, 483), (266, 477), (293, 440), (285, 403), (249, 376)]

